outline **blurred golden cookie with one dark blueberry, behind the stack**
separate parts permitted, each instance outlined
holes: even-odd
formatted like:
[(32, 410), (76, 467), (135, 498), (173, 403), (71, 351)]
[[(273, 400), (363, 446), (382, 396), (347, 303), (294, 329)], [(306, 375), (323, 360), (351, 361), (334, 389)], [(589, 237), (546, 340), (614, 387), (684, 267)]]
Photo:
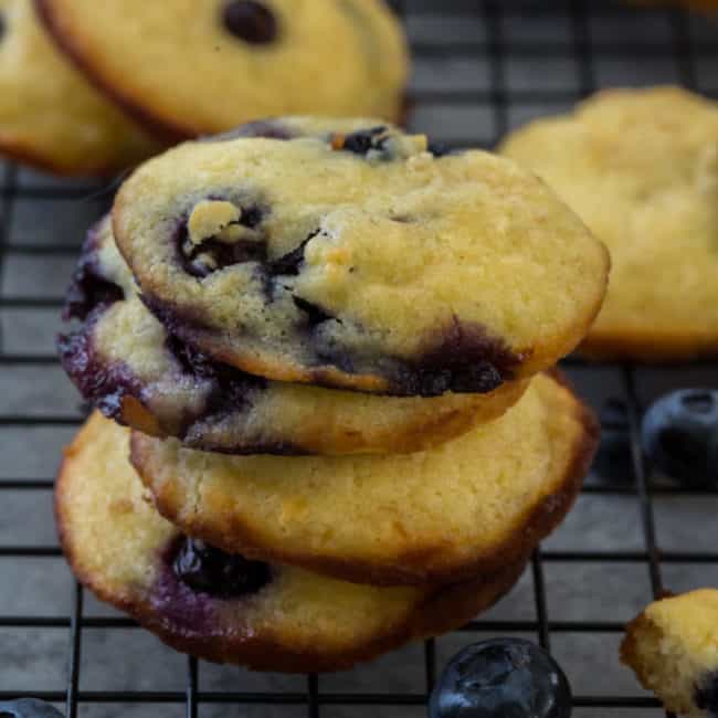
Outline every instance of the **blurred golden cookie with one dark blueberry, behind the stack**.
[(272, 115), (402, 112), (408, 50), (381, 0), (36, 3), (89, 77), (171, 137)]

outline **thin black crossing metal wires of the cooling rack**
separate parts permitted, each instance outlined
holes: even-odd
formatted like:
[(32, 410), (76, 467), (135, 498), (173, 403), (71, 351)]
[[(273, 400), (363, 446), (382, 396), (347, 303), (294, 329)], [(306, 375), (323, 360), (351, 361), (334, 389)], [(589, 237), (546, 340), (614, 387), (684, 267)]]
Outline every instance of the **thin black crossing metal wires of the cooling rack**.
[[(483, 38), (469, 41), (458, 40), (451, 42), (425, 42), (421, 39), (413, 43), (413, 53), (418, 60), (435, 56), (462, 57), (481, 63), (488, 71), (487, 86), (483, 89), (450, 89), (431, 88), (414, 89), (412, 103), (414, 109), (431, 107), (436, 104), (448, 104), (460, 107), (463, 104), (482, 106), (493, 117), (493, 130), (475, 134), (469, 137), (435, 137), (446, 145), (481, 145), (493, 147), (498, 139), (509, 129), (510, 112), (517, 104), (571, 104), (581, 97), (591, 94), (599, 85), (595, 71), (596, 55), (622, 57), (629, 62), (651, 62), (653, 59), (673, 63), (675, 76), (688, 87), (696, 87), (697, 62), (701, 57), (718, 59), (718, 25), (715, 38), (700, 39), (694, 36), (693, 24), (688, 14), (682, 10), (663, 9), (653, 11), (659, 13), (669, 27), (668, 42), (653, 41), (642, 38), (640, 43), (629, 43), (624, 40), (596, 40), (592, 36), (592, 20), (599, 15), (612, 15), (617, 19), (634, 18), (636, 12), (620, 3), (608, 0), (397, 0), (393, 2), (402, 18), (408, 13), (421, 14), (426, 12), (441, 13), (442, 17), (478, 18), (485, 34)], [(521, 14), (527, 28), (540, 19), (543, 24), (548, 22), (566, 22), (570, 28), (567, 42), (540, 42), (530, 36), (518, 41), (507, 41), (505, 35), (505, 20), (507, 13)], [(525, 61), (546, 60), (557, 62), (571, 62), (578, 71), (576, 87), (563, 86), (552, 88), (511, 88), (507, 81), (507, 62), (513, 59)], [(717, 81), (718, 82), (718, 81)], [(714, 87), (700, 86), (704, 94), (718, 96), (718, 84)], [(483, 131), (483, 130), (482, 130)], [(10, 223), (17, 212), (19, 202), (43, 202), (52, 200), (63, 204), (87, 201), (88, 196), (98, 209), (109, 202), (112, 188), (103, 194), (95, 192), (97, 188), (78, 186), (76, 183), (23, 182), (18, 168), (8, 166), (0, 192), (0, 268), (8, 262), (22, 257), (34, 257), (53, 263), (70, 260), (77, 251), (80, 236), (76, 241), (55, 241), (47, 237), (41, 243), (13, 243), (10, 236)], [(63, 228), (56, 228), (62, 233)], [(6, 285), (3, 284), (3, 287)], [(61, 299), (59, 297), (34, 296), (32, 294), (18, 294), (6, 292), (0, 296), (0, 313), (12, 310), (59, 312)], [(4, 324), (3, 324), (4, 326)], [(56, 365), (54, 356), (49, 353), (29, 352), (18, 353), (7, 350), (7, 336), (0, 335), (0, 367), (2, 371), (13, 371), (22, 368), (41, 370), (43, 367)], [(567, 361), (569, 369), (580, 368), (581, 362), (574, 359)], [(522, 632), (532, 633), (541, 645), (550, 647), (552, 636), (561, 633), (610, 633), (617, 634), (623, 630), (622, 622), (617, 621), (563, 621), (549, 619), (548, 598), (545, 582), (545, 567), (550, 562), (606, 562), (625, 563), (638, 562), (645, 566), (648, 572), (653, 594), (658, 596), (664, 591), (662, 567), (666, 563), (716, 563), (718, 552), (706, 551), (662, 551), (656, 541), (656, 530), (653, 515), (653, 496), (656, 493), (676, 493), (679, 489), (665, 485), (656, 485), (651, 478), (650, 467), (646, 466), (640, 440), (640, 419), (642, 405), (636, 391), (636, 377), (641, 368), (620, 367), (622, 382), (622, 399), (627, 406), (630, 440), (633, 453), (633, 468), (635, 482), (625, 484), (590, 484), (585, 492), (605, 495), (629, 495), (636, 499), (641, 526), (643, 530), (644, 548), (642, 550), (615, 551), (587, 551), (587, 550), (538, 550), (531, 562), (534, 581), (534, 601), (536, 620), (530, 621), (492, 621), (478, 620), (465, 626), (464, 631), (483, 631), (489, 633)], [(682, 369), (676, 368), (675, 383), (680, 386)], [(717, 381), (718, 381), (718, 367)], [(0, 415), (0, 431), (7, 429), (44, 426), (56, 429), (75, 426), (80, 423), (78, 415), (70, 412), (66, 414), (53, 413), (52, 415), (35, 415), (34, 413), (11, 412)], [(0, 481), (0, 492), (50, 492), (53, 486), (52, 478), (7, 478)], [(33, 558), (57, 558), (60, 549), (56, 546), (0, 546), (1, 558), (13, 558), (19, 561)], [(309, 718), (330, 715), (330, 706), (408, 706), (415, 707), (416, 715), (423, 715), (426, 696), (432, 688), (437, 671), (436, 651), (433, 641), (427, 641), (424, 646), (424, 690), (406, 693), (330, 693), (323, 690), (321, 678), (309, 675), (305, 688), (295, 691), (212, 691), (200, 690), (198, 676), (201, 666), (193, 658), (187, 659), (187, 676), (184, 690), (81, 690), (81, 652), (83, 646), (83, 631), (85, 629), (133, 629), (136, 624), (123, 617), (93, 617), (84, 614), (83, 589), (75, 583), (72, 596), (72, 611), (67, 616), (47, 615), (0, 615), (0, 629), (31, 627), (31, 629), (66, 629), (67, 630), (67, 680), (66, 689), (44, 690), (38, 686), (31, 693), (35, 697), (66, 704), (66, 715), (75, 718), (78, 708), (86, 704), (175, 704), (184, 705), (186, 715), (190, 718), (198, 716), (199, 706), (205, 704), (223, 705), (297, 705), (306, 707)], [(21, 691), (27, 695), (28, 691)], [(636, 689), (637, 694), (637, 689)], [(1, 690), (0, 699), (18, 697), (14, 690)], [(601, 708), (606, 711), (614, 709), (625, 711), (633, 708), (658, 708), (659, 704), (645, 695), (614, 696), (614, 695), (582, 695), (574, 697), (577, 707)], [(148, 712), (151, 715), (151, 712)], [(237, 715), (242, 715), (241, 711)], [(624, 715), (621, 712), (606, 715)]]

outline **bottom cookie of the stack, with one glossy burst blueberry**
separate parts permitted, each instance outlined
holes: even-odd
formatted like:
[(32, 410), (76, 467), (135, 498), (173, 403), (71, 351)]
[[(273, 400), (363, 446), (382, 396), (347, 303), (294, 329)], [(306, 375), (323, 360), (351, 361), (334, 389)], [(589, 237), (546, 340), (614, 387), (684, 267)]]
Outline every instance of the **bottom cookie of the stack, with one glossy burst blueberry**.
[(377, 588), (226, 555), (182, 536), (145, 499), (128, 430), (95, 413), (55, 489), (77, 578), (179, 651), (266, 671), (336, 671), (460, 626), (522, 567), (464, 584)]

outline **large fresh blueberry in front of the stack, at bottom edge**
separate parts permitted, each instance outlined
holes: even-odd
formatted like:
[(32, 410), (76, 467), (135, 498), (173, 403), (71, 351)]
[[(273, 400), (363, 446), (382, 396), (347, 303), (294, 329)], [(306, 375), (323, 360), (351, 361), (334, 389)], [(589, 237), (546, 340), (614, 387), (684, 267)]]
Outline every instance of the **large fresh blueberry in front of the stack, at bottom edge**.
[(530, 641), (475, 643), (450, 662), (430, 718), (570, 718), (571, 688), (549, 653)]

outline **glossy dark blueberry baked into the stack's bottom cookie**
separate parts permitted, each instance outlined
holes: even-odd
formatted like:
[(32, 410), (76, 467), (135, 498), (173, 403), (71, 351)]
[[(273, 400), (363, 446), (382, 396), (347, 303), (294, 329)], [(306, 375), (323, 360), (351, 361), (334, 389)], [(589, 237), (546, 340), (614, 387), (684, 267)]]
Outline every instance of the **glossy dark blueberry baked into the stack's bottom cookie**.
[(267, 563), (225, 553), (204, 541), (183, 537), (172, 560), (175, 574), (193, 591), (230, 599), (261, 591), (271, 580)]

